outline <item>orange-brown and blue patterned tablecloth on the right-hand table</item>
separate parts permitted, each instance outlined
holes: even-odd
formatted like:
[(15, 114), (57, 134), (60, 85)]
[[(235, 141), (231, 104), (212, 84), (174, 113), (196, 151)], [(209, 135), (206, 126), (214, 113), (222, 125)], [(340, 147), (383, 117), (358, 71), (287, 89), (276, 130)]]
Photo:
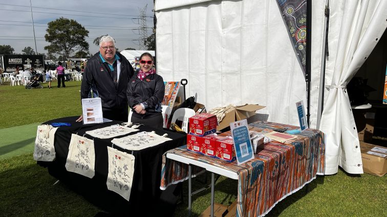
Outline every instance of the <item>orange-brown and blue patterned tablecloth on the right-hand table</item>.
[[(297, 129), (298, 127), (270, 122), (249, 124), (249, 130)], [(238, 165), (188, 151), (186, 146), (168, 151), (186, 158), (199, 160), (238, 174), (237, 216), (262, 216), (279, 201), (293, 194), (307, 183), (324, 174), (325, 135), (307, 129), (295, 134), (285, 143), (272, 141), (254, 155), (254, 159)], [(167, 159), (163, 155), (160, 188), (187, 179), (188, 165)], [(200, 168), (192, 166), (192, 174)], [(236, 186), (235, 186), (236, 187)]]

